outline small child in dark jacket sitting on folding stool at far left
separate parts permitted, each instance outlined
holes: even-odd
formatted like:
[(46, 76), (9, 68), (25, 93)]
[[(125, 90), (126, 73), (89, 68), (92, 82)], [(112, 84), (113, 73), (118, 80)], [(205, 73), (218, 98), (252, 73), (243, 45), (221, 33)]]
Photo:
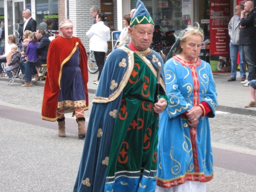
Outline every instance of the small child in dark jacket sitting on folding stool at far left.
[(19, 68), (20, 66), (20, 56), (21, 54), (18, 52), (18, 47), (17, 45), (13, 45), (11, 47), (11, 52), (12, 52), (12, 58), (11, 61), (8, 63), (8, 66), (6, 68), (4, 68), (4, 70), (6, 71), (6, 74), (8, 75), (9, 79), (11, 79), (12, 81), (14, 81), (13, 79), (13, 75), (12, 75), (12, 70), (16, 70)]

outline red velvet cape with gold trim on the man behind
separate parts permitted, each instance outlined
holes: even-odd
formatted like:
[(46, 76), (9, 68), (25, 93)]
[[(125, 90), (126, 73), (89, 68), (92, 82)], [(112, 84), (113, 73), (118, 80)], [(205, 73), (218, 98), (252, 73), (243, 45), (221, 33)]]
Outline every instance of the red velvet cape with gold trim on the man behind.
[(47, 121), (56, 121), (58, 95), (61, 87), (62, 68), (71, 56), (76, 52), (77, 46), (80, 50), (80, 69), (84, 81), (84, 92), (86, 98), (86, 107), (88, 110), (88, 68), (86, 50), (79, 38), (72, 37), (70, 39), (58, 37), (49, 45), (47, 55), (47, 77), (44, 85), (44, 97), (42, 103), (42, 119)]

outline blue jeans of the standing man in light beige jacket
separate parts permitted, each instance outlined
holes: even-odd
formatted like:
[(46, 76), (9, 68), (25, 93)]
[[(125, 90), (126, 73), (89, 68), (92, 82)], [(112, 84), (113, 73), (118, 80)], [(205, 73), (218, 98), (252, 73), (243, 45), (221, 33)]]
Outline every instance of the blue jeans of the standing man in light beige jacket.
[(234, 45), (230, 42), (230, 58), (231, 58), (231, 78), (236, 79), (236, 70), (237, 70), (237, 53), (239, 51), (240, 58), (240, 76), (241, 78), (246, 78), (246, 61), (244, 55), (244, 49), (242, 45)]

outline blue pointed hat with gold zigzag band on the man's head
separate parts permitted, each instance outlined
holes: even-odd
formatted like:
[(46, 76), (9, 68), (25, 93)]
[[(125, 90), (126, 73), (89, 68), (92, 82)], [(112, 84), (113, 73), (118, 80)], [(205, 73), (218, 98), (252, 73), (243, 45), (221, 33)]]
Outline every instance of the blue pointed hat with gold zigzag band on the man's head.
[(141, 0), (138, 0), (136, 5), (136, 10), (131, 19), (130, 26), (136, 25), (136, 24), (147, 24), (147, 23), (151, 23), (154, 25), (154, 22), (150, 17), (148, 10), (144, 6), (143, 2)]

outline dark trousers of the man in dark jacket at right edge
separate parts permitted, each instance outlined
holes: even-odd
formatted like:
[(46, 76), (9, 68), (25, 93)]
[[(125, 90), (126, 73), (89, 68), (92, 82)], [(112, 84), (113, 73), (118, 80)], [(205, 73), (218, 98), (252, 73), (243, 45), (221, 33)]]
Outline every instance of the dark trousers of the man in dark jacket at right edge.
[(254, 46), (243, 45), (243, 48), (246, 62), (249, 65), (248, 81), (251, 81), (255, 79)]

